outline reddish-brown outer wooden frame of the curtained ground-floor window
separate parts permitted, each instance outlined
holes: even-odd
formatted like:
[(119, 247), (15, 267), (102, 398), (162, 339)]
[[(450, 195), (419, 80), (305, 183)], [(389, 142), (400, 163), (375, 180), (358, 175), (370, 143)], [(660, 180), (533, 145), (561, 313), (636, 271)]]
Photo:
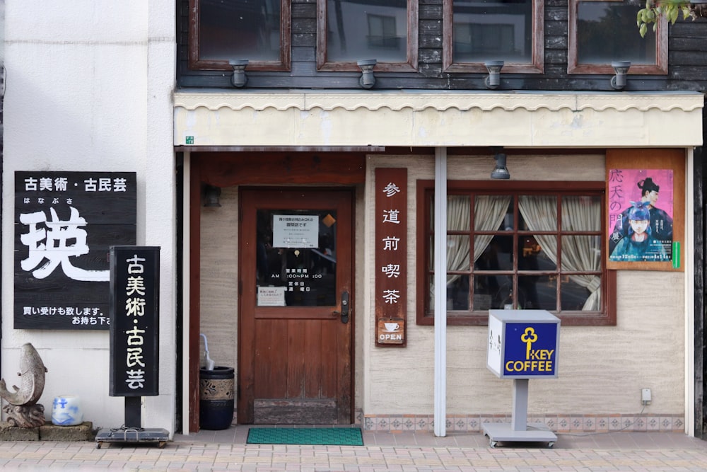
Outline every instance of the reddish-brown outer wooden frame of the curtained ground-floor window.
[[(503, 185), (500, 185), (503, 184)], [(560, 181), (542, 181), (542, 182), (522, 182), (509, 181), (498, 183), (489, 180), (448, 180), (448, 195), (548, 195), (556, 194), (559, 197), (563, 195), (597, 195), (602, 197), (602, 228), (601, 238), (606, 241), (607, 227), (605, 205), (605, 183), (603, 181), (577, 181), (577, 182), (560, 182)], [(428, 283), (433, 275), (433, 267), (430, 261), (431, 247), (428, 241), (431, 241), (433, 236), (433, 226), (431, 221), (432, 203), (428, 198), (433, 195), (434, 181), (433, 180), (418, 180), (417, 181), (417, 324), (424, 326), (434, 325), (434, 312), (430, 308), (431, 303), (429, 298)], [(517, 234), (514, 232), (514, 234)], [(558, 242), (561, 248), (561, 241)], [(602, 251), (605, 251), (605, 246), (602, 245)], [(518, 260), (518, 258), (514, 258)], [(514, 264), (517, 264), (515, 262)], [(616, 326), (617, 323), (617, 277), (615, 270), (608, 270), (606, 258), (602, 255), (602, 311), (600, 313), (591, 312), (583, 313), (582, 311), (563, 311), (554, 313), (561, 319), (563, 326)], [(561, 269), (558, 267), (558, 271)], [(517, 272), (514, 268), (513, 272)], [(471, 268), (473, 273), (473, 268)], [(469, 312), (467, 315), (448, 316), (447, 323), (450, 326), (484, 326), (489, 321), (488, 312), (477, 311)]]

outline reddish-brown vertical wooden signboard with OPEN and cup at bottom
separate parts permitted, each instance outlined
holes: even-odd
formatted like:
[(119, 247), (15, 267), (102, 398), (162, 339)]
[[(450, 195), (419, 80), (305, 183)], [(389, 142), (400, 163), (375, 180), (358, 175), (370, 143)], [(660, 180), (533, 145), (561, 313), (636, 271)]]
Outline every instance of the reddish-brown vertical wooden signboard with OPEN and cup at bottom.
[(375, 169), (375, 345), (407, 343), (407, 169)]

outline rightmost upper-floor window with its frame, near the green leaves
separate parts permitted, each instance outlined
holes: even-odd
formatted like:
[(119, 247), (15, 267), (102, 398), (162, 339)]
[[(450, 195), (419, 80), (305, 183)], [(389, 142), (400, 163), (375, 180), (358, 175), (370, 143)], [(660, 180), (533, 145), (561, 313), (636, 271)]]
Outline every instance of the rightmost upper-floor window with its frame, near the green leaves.
[(667, 74), (667, 24), (641, 38), (643, 0), (570, 0), (568, 73), (614, 74), (612, 61), (631, 61), (629, 74)]

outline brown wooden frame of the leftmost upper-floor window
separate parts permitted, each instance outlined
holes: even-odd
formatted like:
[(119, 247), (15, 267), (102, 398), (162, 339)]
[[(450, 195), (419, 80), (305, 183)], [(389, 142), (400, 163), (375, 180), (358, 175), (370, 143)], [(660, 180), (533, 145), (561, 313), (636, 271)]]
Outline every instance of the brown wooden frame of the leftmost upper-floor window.
[[(189, 0), (189, 69), (206, 71), (233, 71), (228, 59), (199, 59), (199, 13), (201, 0)], [(289, 71), (291, 64), (291, 0), (280, 0), (280, 59), (279, 61), (255, 61), (249, 57), (248, 71)]]

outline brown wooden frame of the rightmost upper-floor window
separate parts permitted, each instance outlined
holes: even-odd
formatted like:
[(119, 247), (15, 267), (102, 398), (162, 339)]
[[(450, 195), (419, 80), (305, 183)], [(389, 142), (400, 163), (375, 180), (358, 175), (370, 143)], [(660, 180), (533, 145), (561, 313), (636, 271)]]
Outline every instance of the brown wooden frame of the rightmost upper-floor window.
[[(606, 64), (578, 64), (577, 54), (577, 20), (580, 1), (616, 1), (621, 0), (569, 0), (568, 8), (568, 35), (567, 35), (567, 73), (568, 74), (611, 74), (614, 68), (611, 60)], [(636, 10), (638, 12), (638, 10)], [(665, 18), (658, 20), (655, 31), (655, 64), (631, 64), (629, 75), (667, 74), (667, 21)], [(636, 27), (638, 35), (638, 27)], [(619, 60), (619, 58), (617, 58)]]

